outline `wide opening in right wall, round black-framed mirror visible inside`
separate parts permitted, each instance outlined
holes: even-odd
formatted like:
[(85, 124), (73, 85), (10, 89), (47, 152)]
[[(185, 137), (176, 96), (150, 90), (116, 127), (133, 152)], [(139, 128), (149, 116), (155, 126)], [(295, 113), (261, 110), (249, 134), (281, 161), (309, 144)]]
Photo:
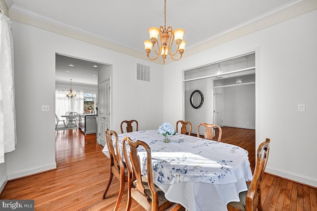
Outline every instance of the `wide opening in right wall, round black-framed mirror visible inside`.
[[(183, 116), (184, 121), (194, 126), (193, 134), (197, 134), (195, 126), (200, 123), (226, 127), (222, 129), (223, 132), (231, 131), (229, 128), (246, 129), (253, 136), (253, 147), (249, 153), (255, 153), (256, 125), (259, 121), (256, 107), (256, 95), (259, 93), (256, 86), (256, 51), (183, 71)], [(200, 90), (204, 95), (204, 103), (197, 109), (190, 105), (190, 94), (194, 90)], [(237, 139), (244, 141), (241, 136), (237, 136)]]

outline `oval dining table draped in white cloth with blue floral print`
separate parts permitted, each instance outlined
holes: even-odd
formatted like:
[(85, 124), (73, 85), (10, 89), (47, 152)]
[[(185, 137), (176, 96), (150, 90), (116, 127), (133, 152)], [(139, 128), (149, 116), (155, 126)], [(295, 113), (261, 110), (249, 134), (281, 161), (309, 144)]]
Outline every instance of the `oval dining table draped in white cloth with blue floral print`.
[[(155, 184), (167, 200), (188, 211), (227, 211), (227, 203), (239, 201), (252, 180), (248, 151), (239, 146), (180, 133), (165, 143), (158, 129), (133, 131), (118, 134), (123, 161), (122, 140), (127, 136), (150, 146)], [(109, 157), (107, 146), (103, 153)], [(142, 174), (148, 176), (144, 148), (138, 148), (138, 155)]]

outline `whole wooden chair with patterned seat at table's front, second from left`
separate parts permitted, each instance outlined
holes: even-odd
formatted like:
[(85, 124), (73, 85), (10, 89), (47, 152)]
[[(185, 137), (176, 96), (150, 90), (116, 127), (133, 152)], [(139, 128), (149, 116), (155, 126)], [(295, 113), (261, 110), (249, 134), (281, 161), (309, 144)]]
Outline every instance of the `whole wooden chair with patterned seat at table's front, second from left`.
[[(126, 143), (130, 145), (128, 155)], [(147, 175), (141, 173), (140, 157), (138, 155), (138, 146), (143, 146), (147, 156)], [(125, 137), (122, 142), (124, 160), (128, 169), (128, 202), (125, 211), (130, 211), (132, 198), (138, 202), (147, 211), (177, 211), (182, 206), (177, 203), (169, 202), (165, 198), (164, 192), (154, 184), (152, 174), (152, 157), (149, 145), (141, 140), (133, 141)], [(131, 164), (132, 166), (131, 166)], [(136, 180), (132, 178), (135, 175)]]

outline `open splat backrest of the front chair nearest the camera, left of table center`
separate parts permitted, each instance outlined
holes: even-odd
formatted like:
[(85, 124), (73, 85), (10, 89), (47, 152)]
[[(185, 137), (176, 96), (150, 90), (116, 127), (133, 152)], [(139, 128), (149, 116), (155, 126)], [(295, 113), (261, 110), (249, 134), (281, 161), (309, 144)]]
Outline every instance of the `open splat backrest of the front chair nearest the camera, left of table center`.
[[(128, 155), (127, 150), (126, 150), (126, 143), (130, 145), (130, 153)], [(140, 165), (140, 157), (138, 156), (138, 146), (143, 146), (145, 149), (145, 152), (147, 154), (147, 179), (148, 179), (148, 186), (145, 188), (144, 182), (142, 182), (142, 174), (141, 174), (141, 165)], [(151, 156), (151, 149), (147, 143), (141, 140), (136, 140), (133, 141), (129, 137), (125, 137), (123, 139), (122, 143), (122, 148), (123, 148), (123, 155), (124, 155), (124, 160), (126, 161), (126, 166), (128, 169), (128, 174), (129, 174), (129, 179), (131, 178), (131, 175), (134, 174), (136, 178), (136, 187), (134, 188), (135, 190), (138, 190), (138, 195), (137, 200), (139, 204), (142, 206), (146, 206), (146, 210), (151, 210), (152, 211), (157, 211), (159, 209), (159, 192), (156, 189), (153, 181), (153, 174), (152, 174), (152, 156)], [(139, 148), (140, 149), (140, 148)], [(130, 158), (129, 158), (130, 156)], [(128, 162), (130, 161), (130, 162)], [(152, 208), (151, 204), (148, 201), (148, 196), (146, 195), (145, 191), (146, 189), (149, 189), (151, 191), (152, 195)], [(151, 209), (150, 209), (151, 208)]]

